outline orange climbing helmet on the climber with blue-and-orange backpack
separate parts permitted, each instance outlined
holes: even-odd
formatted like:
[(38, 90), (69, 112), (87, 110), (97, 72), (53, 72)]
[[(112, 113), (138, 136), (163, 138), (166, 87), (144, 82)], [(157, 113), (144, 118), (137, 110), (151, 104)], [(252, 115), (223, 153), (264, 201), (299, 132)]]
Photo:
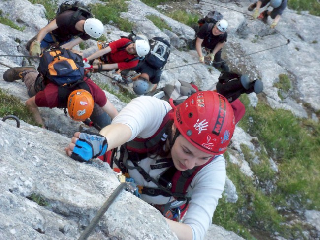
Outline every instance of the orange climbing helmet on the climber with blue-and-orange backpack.
[(74, 90), (68, 98), (69, 115), (75, 121), (84, 121), (91, 116), (94, 104), (94, 99), (88, 91)]

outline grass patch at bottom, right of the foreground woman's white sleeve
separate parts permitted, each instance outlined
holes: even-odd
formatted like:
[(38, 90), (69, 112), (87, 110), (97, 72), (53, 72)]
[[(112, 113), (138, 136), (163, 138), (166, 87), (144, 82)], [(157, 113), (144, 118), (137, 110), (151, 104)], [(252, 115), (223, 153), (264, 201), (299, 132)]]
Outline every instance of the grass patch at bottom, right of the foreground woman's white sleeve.
[(283, 232), (280, 224), (283, 218), (273, 206), (271, 197), (263, 194), (252, 178), (241, 173), (238, 165), (228, 162), (226, 171), (236, 186), (239, 198), (236, 203), (227, 203), (225, 198), (219, 200), (213, 223), (248, 240), (257, 237), (249, 229), (266, 233)]

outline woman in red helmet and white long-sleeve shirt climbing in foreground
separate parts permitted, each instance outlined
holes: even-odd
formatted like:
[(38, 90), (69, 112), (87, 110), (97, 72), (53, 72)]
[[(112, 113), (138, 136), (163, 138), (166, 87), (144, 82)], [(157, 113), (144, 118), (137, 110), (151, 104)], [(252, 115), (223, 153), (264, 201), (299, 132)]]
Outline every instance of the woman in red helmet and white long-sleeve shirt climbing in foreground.
[(204, 238), (222, 197), (223, 153), (235, 124), (230, 103), (214, 91), (196, 92), (178, 106), (140, 96), (100, 134), (75, 133), (65, 151), (87, 162), (125, 143), (131, 150), (141, 146), (142, 154), (128, 152), (117, 166), (135, 180), (137, 195), (159, 209), (180, 240), (198, 240)]

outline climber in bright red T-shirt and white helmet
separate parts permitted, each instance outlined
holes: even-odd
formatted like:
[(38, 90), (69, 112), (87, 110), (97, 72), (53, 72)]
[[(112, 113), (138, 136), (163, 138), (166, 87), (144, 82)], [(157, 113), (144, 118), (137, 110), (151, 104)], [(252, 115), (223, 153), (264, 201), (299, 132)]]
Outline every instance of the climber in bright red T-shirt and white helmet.
[(101, 57), (105, 64), (89, 65), (86, 69), (112, 70), (131, 69), (138, 65), (139, 60), (146, 56), (150, 51), (149, 43), (145, 40), (130, 41), (127, 38), (121, 38), (110, 42), (105, 48), (84, 58), (85, 63), (90, 60)]

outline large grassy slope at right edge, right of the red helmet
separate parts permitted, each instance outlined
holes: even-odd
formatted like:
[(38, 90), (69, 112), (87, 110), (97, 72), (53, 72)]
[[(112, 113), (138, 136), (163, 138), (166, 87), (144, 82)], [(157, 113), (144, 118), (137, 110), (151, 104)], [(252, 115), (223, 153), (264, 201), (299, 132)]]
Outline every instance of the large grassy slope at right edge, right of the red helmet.
[[(280, 199), (296, 198), (306, 208), (320, 208), (320, 123), (296, 118), (290, 111), (273, 110), (265, 103), (253, 109), (241, 97), (246, 114), (239, 126), (258, 137), (277, 162)], [(281, 201), (278, 201), (281, 202)]]

